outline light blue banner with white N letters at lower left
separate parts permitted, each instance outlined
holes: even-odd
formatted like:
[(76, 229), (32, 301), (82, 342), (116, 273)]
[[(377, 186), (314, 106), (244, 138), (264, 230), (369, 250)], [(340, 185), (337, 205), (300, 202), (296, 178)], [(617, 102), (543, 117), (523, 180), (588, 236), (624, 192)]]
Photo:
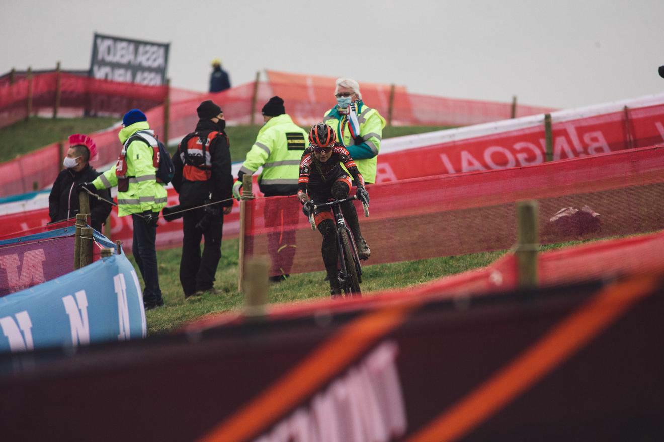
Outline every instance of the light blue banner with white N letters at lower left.
[(125, 341), (146, 331), (141, 286), (124, 254), (0, 298), (0, 352)]

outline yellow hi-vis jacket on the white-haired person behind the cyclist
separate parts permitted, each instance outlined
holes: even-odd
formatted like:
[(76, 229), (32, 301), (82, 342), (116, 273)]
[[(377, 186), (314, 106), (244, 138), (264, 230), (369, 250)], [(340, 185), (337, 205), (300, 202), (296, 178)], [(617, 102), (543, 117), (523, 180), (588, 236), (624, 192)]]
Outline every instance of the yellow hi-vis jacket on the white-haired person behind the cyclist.
[(363, 142), (355, 144), (348, 129), (348, 117), (340, 113), (337, 107), (333, 107), (323, 117), (323, 121), (330, 125), (337, 134), (337, 140), (341, 142), (350, 152), (357, 168), (367, 184), (376, 182), (376, 164), (378, 164), (378, 151), (380, 140), (382, 140), (382, 128), (385, 127), (385, 119), (376, 111), (363, 103), (357, 104), (357, 121), (360, 123), (360, 136)]

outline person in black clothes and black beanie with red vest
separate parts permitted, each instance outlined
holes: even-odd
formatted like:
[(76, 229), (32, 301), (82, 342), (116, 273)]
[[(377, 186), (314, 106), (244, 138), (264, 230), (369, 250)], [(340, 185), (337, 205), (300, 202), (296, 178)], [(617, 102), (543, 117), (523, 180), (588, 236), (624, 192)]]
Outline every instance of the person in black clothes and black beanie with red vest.
[[(173, 155), (173, 188), (180, 195), (182, 213), (182, 257), (180, 282), (185, 300), (203, 292), (214, 292), (214, 274), (221, 258), (224, 216), (233, 208), (233, 176), (224, 113), (212, 101), (197, 109), (196, 130), (182, 139)], [(167, 210), (164, 215), (167, 217)], [(205, 237), (201, 256), (201, 237)]]

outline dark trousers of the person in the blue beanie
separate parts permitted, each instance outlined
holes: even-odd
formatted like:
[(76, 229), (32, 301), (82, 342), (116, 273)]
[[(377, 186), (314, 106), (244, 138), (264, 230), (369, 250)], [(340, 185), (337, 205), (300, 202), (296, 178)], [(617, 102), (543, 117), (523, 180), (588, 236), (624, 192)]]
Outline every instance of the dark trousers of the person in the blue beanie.
[(157, 304), (162, 301), (157, 270), (157, 249), (155, 249), (157, 226), (146, 223), (145, 219), (137, 215), (131, 215), (131, 220), (133, 221), (131, 252), (145, 282), (143, 302)]

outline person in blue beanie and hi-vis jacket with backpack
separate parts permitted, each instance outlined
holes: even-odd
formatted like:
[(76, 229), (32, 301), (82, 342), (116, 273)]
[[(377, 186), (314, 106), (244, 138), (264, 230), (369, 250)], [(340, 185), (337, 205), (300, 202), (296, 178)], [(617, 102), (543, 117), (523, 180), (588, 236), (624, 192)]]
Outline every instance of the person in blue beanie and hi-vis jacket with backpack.
[(164, 304), (155, 239), (159, 212), (166, 205), (166, 189), (157, 182), (159, 159), (153, 148), (157, 143), (145, 113), (131, 109), (125, 113), (122, 126), (119, 137), (123, 146), (116, 165), (93, 182), (80, 184), (78, 190), (94, 192), (118, 186), (118, 216), (131, 215), (133, 221), (131, 250), (145, 282), (143, 304), (149, 310)]

